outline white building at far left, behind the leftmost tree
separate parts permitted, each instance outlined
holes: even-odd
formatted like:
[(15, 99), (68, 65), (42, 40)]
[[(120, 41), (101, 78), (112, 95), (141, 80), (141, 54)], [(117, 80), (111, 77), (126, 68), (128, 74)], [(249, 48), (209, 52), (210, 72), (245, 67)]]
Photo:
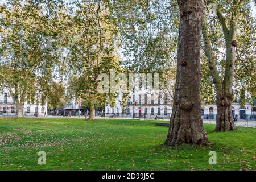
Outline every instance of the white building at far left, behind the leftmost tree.
[[(44, 116), (45, 112), (47, 113), (47, 104), (40, 105), (25, 102), (23, 106), (23, 115), (25, 116), (34, 116), (35, 113), (38, 113), (38, 116)], [(15, 116), (15, 114), (15, 99), (10, 96), (7, 90), (3, 90), (0, 93), (0, 116)]]

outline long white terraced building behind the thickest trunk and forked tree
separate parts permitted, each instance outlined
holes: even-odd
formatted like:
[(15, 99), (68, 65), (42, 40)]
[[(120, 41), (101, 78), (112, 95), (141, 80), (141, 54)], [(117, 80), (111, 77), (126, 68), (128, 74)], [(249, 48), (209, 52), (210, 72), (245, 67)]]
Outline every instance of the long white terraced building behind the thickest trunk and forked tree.
[[(171, 96), (168, 93), (148, 94), (145, 92), (130, 93), (130, 100), (127, 101), (126, 106), (121, 106), (122, 94), (119, 94), (115, 107), (107, 105), (105, 107), (106, 117), (127, 117), (127, 118), (155, 118), (156, 115), (161, 118), (170, 118), (172, 113)], [(201, 109), (201, 116), (203, 119), (216, 119), (217, 106), (216, 104), (204, 105)], [(238, 119), (252, 119), (256, 118), (256, 107), (245, 104), (241, 107), (238, 103), (232, 104), (233, 117)]]

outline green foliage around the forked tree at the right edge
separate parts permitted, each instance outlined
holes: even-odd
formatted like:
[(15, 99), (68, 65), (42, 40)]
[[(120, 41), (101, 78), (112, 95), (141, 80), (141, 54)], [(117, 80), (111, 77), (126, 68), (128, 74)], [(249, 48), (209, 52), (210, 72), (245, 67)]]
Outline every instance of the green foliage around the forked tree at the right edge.
[[(207, 26), (209, 38), (212, 42), (213, 59), (217, 64), (217, 69), (221, 80), (224, 80), (224, 75), (234, 74), (234, 98), (240, 97), (240, 90), (245, 90), (245, 100), (253, 100), (255, 98), (255, 17), (253, 16), (250, 1), (207, 1), (207, 3), (216, 3), (217, 10), (224, 15), (226, 26), (235, 32), (235, 39), (237, 41), (236, 47), (236, 61), (234, 72), (229, 72), (226, 69), (226, 41), (228, 36), (224, 35), (221, 21), (216, 16), (207, 16)], [(208, 14), (208, 11), (206, 10)], [(229, 65), (230, 66), (230, 65)], [(203, 75), (207, 75), (207, 69), (201, 69)], [(202, 80), (203, 85), (212, 85), (209, 79)], [(202, 85), (202, 84), (201, 84)], [(246, 86), (245, 86), (246, 85)], [(204, 94), (202, 86), (201, 93)]]

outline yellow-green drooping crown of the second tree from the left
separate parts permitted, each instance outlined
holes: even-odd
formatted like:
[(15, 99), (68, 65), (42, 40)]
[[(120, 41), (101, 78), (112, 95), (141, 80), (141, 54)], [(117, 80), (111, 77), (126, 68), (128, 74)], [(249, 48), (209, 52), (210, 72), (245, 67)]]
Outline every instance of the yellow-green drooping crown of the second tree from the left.
[[(98, 76), (110, 75), (110, 69), (121, 72), (117, 45), (117, 28), (110, 15), (108, 3), (99, 1), (74, 1), (76, 9), (66, 25), (64, 47), (67, 48), (67, 64), (71, 69), (69, 89), (85, 105), (103, 106), (107, 94), (97, 91)], [(112, 97), (110, 97), (112, 101)]]

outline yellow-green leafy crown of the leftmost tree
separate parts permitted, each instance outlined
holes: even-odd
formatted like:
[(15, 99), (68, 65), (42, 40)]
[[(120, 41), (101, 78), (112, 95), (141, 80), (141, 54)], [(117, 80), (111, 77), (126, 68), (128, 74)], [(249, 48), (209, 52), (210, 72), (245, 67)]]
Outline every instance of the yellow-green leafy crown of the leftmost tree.
[(0, 14), (0, 86), (19, 98), (16, 104), (44, 104), (61, 54), (57, 20), (33, 1), (6, 1)]

